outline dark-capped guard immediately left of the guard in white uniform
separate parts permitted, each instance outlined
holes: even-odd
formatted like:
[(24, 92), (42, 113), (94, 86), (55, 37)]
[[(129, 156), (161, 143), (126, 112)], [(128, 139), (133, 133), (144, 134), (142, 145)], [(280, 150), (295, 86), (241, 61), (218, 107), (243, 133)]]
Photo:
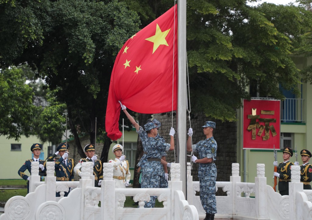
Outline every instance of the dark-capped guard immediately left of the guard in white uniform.
[(95, 155), (95, 146), (94, 144), (87, 144), (83, 151), (86, 154), (86, 158), (81, 158), (79, 163), (74, 167), (74, 171), (78, 176), (81, 177), (81, 163), (82, 162), (93, 162), (93, 175), (94, 177), (94, 186), (100, 187), (102, 179), (103, 179), (103, 169), (102, 162), (98, 160), (98, 156)]

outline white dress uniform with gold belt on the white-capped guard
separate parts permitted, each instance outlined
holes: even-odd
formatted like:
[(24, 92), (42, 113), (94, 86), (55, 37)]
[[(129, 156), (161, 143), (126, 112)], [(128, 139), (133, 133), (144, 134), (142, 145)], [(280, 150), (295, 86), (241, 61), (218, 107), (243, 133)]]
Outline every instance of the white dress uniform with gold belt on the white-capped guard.
[(109, 163), (113, 163), (113, 179), (115, 180), (115, 188), (126, 188), (125, 183), (130, 181), (130, 171), (128, 160), (120, 161), (119, 159), (110, 159)]

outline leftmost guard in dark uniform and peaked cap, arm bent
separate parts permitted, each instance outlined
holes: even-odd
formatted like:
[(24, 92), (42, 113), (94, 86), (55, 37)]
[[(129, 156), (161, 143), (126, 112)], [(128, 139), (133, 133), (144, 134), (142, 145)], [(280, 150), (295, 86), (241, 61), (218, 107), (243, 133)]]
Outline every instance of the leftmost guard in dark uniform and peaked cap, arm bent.
[[(46, 175), (46, 170), (44, 168), (45, 162), (44, 160), (39, 159), (40, 153), (42, 149), (42, 144), (33, 144), (30, 148), (30, 150), (33, 153), (33, 158), (30, 160), (26, 160), (24, 165), (18, 170), (18, 175), (20, 175), (23, 179), (28, 180), (27, 181), (27, 193), (29, 193), (29, 176), (27, 176), (24, 172), (25, 170), (28, 170), (30, 175), (32, 175), (32, 161), (38, 161), (39, 162), (39, 175), (44, 176)], [(42, 179), (40, 178), (40, 181)]]

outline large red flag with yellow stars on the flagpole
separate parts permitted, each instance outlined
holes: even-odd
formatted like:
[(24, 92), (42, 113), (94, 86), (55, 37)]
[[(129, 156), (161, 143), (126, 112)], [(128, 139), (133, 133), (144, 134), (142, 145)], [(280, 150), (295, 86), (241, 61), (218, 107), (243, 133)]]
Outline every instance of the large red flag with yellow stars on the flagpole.
[(120, 104), (144, 114), (177, 109), (177, 6), (134, 34), (119, 51), (108, 93), (105, 128), (116, 140)]

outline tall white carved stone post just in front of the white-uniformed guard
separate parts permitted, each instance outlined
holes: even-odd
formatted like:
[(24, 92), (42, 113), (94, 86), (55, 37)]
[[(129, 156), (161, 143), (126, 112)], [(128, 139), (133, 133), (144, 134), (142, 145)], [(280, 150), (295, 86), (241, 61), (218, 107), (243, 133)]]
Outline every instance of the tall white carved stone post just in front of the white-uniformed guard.
[(105, 219), (115, 219), (115, 180), (113, 164), (103, 163), (103, 180), (101, 185), (101, 215)]

